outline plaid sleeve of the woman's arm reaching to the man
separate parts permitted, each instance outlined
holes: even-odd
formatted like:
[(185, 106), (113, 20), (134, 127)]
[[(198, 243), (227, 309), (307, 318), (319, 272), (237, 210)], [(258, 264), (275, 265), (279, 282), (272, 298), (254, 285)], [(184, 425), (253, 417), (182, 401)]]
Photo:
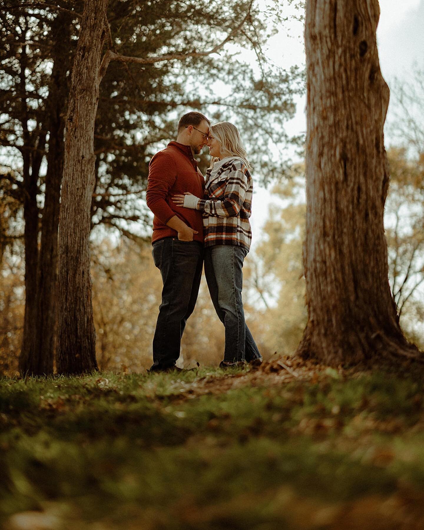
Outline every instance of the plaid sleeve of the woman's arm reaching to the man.
[(214, 217), (235, 217), (240, 211), (246, 191), (248, 191), (248, 176), (242, 167), (229, 169), (225, 179), (224, 197), (222, 199), (204, 199), (197, 204), (197, 209)]

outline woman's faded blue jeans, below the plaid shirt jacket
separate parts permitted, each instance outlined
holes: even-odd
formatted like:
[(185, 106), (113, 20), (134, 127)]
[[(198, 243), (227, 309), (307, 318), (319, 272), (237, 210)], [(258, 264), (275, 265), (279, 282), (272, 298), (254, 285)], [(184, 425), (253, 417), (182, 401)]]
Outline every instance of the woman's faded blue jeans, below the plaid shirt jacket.
[(219, 320), (225, 326), (224, 361), (262, 359), (244, 320), (243, 261), (248, 253), (238, 245), (205, 249), (205, 276)]

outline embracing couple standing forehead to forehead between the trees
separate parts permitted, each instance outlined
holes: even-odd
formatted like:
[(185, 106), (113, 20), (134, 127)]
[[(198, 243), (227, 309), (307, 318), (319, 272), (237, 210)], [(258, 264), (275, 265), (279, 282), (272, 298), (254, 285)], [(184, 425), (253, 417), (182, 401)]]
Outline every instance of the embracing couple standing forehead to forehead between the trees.
[[(211, 156), (206, 183), (194, 157), (205, 145)], [(175, 363), (204, 263), (209, 293), (225, 327), (219, 366), (262, 359), (242, 303), (242, 267), (252, 240), (249, 169), (237, 128), (228, 122), (212, 126), (200, 112), (181, 117), (176, 141), (149, 164), (146, 200), (154, 214), (152, 254), (163, 281), (150, 372), (181, 370)]]

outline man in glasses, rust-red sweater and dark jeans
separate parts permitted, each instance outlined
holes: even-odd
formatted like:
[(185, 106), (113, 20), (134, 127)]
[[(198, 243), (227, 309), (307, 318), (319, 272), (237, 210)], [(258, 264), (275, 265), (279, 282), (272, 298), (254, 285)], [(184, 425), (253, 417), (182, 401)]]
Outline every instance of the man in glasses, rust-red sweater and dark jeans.
[(195, 308), (203, 267), (202, 214), (176, 206), (172, 196), (189, 191), (204, 196), (205, 179), (197, 167), (208, 141), (210, 121), (200, 112), (184, 114), (178, 136), (149, 164), (146, 201), (153, 211), (153, 260), (161, 271), (163, 289), (153, 338), (151, 372), (178, 370), (185, 322)]

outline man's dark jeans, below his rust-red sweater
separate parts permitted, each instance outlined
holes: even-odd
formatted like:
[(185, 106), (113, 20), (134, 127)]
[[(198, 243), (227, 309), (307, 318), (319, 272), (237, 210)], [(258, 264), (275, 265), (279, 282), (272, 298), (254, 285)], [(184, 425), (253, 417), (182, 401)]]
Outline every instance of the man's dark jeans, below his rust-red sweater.
[(176, 237), (166, 237), (153, 245), (153, 260), (163, 281), (153, 338), (153, 371), (174, 366), (180, 357), (185, 322), (199, 293), (203, 252), (201, 243), (179, 241)]

